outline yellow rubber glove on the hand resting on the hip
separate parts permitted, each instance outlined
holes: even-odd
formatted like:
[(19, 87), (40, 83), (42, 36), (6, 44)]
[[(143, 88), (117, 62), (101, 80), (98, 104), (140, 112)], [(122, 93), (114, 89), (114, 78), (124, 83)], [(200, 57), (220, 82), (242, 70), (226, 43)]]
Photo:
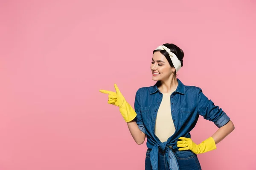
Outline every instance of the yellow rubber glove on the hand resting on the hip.
[(198, 154), (216, 149), (216, 144), (212, 137), (204, 140), (201, 144), (195, 144), (190, 138), (180, 137), (179, 139), (181, 139), (181, 141), (177, 142), (177, 147), (180, 147), (179, 150), (192, 150), (193, 153)]

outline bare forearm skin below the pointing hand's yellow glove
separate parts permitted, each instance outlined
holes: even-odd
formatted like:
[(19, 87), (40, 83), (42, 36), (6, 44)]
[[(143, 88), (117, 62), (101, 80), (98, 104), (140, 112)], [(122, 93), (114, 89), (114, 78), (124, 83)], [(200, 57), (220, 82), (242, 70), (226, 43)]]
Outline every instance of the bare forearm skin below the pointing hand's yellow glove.
[(137, 123), (133, 120), (131, 122), (127, 122), (128, 128), (130, 130), (131, 136), (137, 144), (143, 144), (145, 141), (145, 133), (143, 133)]

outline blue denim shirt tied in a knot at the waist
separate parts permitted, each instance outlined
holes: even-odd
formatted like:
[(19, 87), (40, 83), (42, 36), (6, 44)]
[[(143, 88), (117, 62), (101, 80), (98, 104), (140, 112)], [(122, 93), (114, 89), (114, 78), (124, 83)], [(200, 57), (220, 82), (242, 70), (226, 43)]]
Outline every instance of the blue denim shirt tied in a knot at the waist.
[(177, 150), (179, 137), (191, 137), (189, 132), (195, 127), (199, 115), (214, 122), (217, 127), (224, 126), (230, 120), (221, 108), (214, 105), (212, 100), (203, 94), (201, 88), (183, 85), (179, 79), (177, 81), (177, 89), (170, 97), (175, 133), (167, 142), (160, 142), (154, 133), (157, 111), (163, 99), (163, 94), (157, 88), (160, 82), (158, 81), (154, 86), (140, 88), (136, 93), (135, 120), (140, 130), (147, 136), (147, 147), (151, 149), (150, 160), (153, 170), (157, 170), (159, 147), (165, 150), (166, 156), (169, 157), (170, 170), (179, 169), (172, 150)]

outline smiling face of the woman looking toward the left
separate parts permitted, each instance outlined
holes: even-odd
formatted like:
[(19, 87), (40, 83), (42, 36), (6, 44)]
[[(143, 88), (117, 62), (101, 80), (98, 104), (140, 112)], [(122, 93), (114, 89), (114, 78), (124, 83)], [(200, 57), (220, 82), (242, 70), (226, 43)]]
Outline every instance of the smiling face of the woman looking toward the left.
[(167, 80), (175, 71), (175, 68), (171, 67), (166, 57), (159, 51), (153, 54), (150, 68), (152, 71), (152, 79), (154, 81)]

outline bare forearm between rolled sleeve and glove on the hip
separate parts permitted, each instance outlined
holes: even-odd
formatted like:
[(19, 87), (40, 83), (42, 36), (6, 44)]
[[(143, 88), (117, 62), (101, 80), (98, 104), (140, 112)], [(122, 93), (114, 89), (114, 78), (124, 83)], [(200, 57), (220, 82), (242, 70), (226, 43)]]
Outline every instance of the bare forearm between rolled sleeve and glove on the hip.
[(230, 120), (226, 125), (220, 127), (213, 135), (212, 138), (215, 141), (215, 144), (221, 142), (226, 136), (228, 136), (233, 130), (235, 126), (233, 122)]

